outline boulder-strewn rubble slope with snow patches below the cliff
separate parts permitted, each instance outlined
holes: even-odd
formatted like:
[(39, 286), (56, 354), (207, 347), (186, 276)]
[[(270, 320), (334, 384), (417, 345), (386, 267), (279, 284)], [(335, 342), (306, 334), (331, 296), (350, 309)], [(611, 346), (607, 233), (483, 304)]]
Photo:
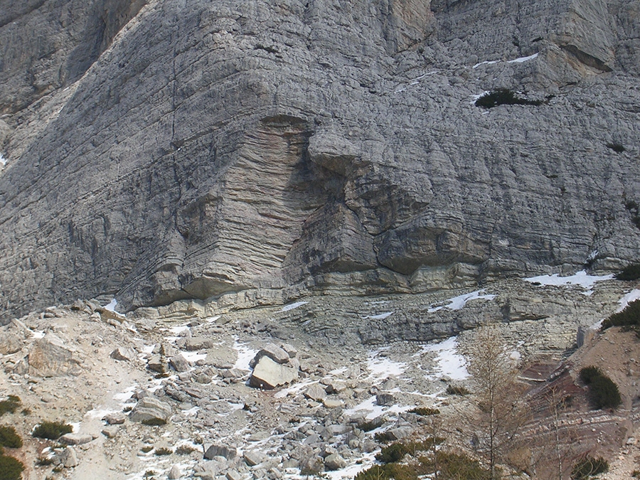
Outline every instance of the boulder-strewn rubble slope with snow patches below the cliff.
[[(540, 380), (575, 349), (577, 326), (607, 316), (620, 299), (640, 297), (636, 284), (599, 280), (592, 290), (518, 280), (492, 284), (487, 292), (494, 293), (484, 297), (469, 291), (446, 301), (437, 294), (412, 297), (431, 319), (454, 315), (461, 326), (510, 311), (503, 334), (511, 358), (525, 369), (522, 381), (535, 392), (555, 385)], [(0, 400), (17, 395), (21, 405), (0, 422), (14, 425), (25, 446), (8, 452), (23, 460), (25, 480), (292, 480), (309, 472), (352, 479), (383, 446), (375, 434), (421, 439), (429, 434), (429, 420), (409, 410), (437, 407), (443, 448), (473, 454), (474, 396), (445, 390), (476, 389), (464, 366), (474, 330), (453, 337), (440, 331), (437, 342), (426, 336), (408, 341), (405, 329), (420, 323), (418, 309), (410, 302), (404, 309), (392, 304), (395, 297), (368, 303), (308, 297), (306, 303), (240, 311), (182, 301), (127, 316), (90, 301), (14, 319), (0, 327)], [(329, 325), (328, 319), (330, 327), (316, 328)], [(385, 334), (393, 341), (353, 341), (354, 324), (361, 332), (388, 325), (391, 333)], [(612, 459), (615, 474), (607, 478), (628, 478), (640, 454), (634, 444), (638, 345), (629, 333), (589, 336), (565, 370), (559, 368), (575, 398), (560, 419), (563, 447), (570, 444), (574, 457), (590, 452)], [(624, 405), (616, 412), (590, 410), (575, 380), (581, 366), (594, 363), (620, 386)], [(265, 365), (294, 375), (263, 390), (274, 379), (264, 374)], [(532, 375), (543, 371), (540, 365), (547, 373)], [(523, 433), (530, 434), (532, 448), (542, 448), (553, 419), (542, 412), (545, 395), (528, 400), (537, 417)], [(157, 419), (166, 423), (144, 424)], [(74, 432), (59, 442), (34, 439), (33, 427), (43, 420), (67, 422)], [(367, 427), (368, 421), (375, 425)], [(539, 452), (533, 451), (535, 459)], [(574, 457), (563, 458), (568, 464)]]

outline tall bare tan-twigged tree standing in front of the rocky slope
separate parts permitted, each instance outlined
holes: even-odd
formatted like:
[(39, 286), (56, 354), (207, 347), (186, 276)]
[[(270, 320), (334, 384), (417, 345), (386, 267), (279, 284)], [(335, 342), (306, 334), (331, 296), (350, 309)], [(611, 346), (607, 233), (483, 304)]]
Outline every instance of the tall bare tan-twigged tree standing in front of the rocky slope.
[(476, 331), (469, 348), (469, 373), (476, 382), (479, 407), (476, 447), (489, 462), (491, 479), (496, 479), (496, 466), (515, 448), (518, 430), (528, 419), (518, 372), (498, 326), (485, 324)]

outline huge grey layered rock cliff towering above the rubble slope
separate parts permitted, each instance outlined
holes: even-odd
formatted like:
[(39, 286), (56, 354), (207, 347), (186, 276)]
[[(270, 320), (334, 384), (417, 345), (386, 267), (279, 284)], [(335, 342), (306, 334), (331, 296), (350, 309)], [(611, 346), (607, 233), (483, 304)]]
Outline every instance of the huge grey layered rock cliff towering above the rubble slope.
[[(0, 69), (6, 316), (637, 257), (638, 1), (105, 0), (70, 38), (32, 3), (0, 9), (59, 45), (42, 86), (28, 42)], [(472, 105), (500, 87), (547, 103)]]

